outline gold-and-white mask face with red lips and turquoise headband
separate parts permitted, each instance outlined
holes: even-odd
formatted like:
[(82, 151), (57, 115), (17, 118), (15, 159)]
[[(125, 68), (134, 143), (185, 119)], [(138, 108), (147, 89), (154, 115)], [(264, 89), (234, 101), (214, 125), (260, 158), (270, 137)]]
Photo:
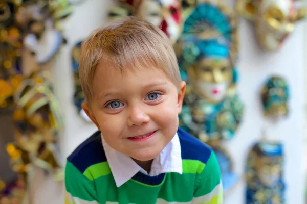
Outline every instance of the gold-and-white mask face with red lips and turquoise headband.
[(220, 103), (235, 81), (228, 48), (216, 40), (196, 43), (199, 54), (198, 59), (187, 68), (189, 82), (193, 91), (208, 103)]

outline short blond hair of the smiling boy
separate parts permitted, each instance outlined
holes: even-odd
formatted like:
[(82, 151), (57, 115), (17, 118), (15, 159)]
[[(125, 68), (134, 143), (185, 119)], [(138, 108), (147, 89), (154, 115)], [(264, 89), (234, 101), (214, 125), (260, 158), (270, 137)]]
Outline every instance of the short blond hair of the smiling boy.
[[(111, 60), (121, 70), (155, 67), (163, 70), (176, 86), (181, 78), (171, 41), (155, 25), (126, 17), (96, 29), (81, 46), (79, 76), (87, 103), (92, 99), (92, 82), (97, 65)], [(105, 68), (109, 68), (106, 66)]]

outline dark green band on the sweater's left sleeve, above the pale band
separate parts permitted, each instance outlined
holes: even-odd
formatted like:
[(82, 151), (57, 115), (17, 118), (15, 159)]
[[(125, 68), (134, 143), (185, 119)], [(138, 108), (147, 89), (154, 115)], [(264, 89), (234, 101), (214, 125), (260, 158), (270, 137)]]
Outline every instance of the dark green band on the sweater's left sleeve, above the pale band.
[(73, 197), (83, 200), (96, 200), (96, 189), (92, 181), (87, 179), (72, 163), (65, 167), (65, 187)]

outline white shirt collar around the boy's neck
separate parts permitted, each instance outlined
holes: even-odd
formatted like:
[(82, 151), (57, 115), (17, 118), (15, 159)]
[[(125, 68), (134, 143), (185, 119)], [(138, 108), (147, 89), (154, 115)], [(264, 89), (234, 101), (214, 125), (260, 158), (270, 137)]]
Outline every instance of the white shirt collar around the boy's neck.
[[(110, 147), (105, 142), (102, 135), (101, 140), (108, 165), (117, 187), (126, 183), (139, 171), (147, 174), (147, 172), (129, 156)], [(161, 153), (153, 159), (149, 175), (156, 176), (167, 172), (182, 174), (181, 147), (177, 133)]]

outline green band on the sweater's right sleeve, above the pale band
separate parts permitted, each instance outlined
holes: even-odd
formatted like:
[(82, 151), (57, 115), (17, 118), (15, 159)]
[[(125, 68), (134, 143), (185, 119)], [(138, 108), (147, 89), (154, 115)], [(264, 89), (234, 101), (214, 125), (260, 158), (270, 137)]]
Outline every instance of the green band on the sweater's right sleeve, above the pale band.
[(198, 176), (198, 189), (196, 190), (194, 196), (199, 197), (210, 193), (215, 188), (215, 186), (220, 184), (220, 181), (220, 166), (217, 163), (214, 152), (211, 151), (211, 156), (206, 164), (206, 167)]

